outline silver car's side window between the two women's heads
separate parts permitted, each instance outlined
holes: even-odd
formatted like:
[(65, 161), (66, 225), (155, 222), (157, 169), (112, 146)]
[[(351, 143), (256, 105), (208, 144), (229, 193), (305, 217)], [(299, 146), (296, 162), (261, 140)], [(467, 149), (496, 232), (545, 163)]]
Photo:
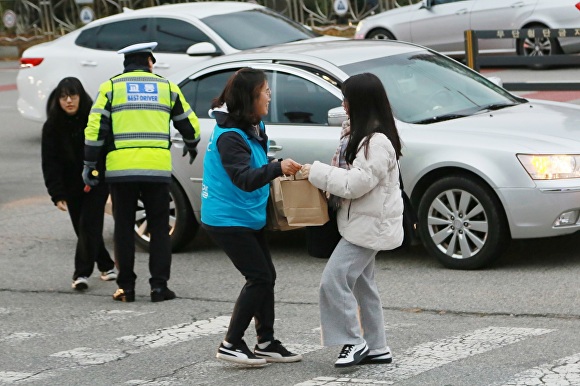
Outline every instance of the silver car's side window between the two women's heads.
[(323, 87), (292, 74), (271, 76), (271, 123), (328, 124), (328, 110), (339, 107), (340, 99)]

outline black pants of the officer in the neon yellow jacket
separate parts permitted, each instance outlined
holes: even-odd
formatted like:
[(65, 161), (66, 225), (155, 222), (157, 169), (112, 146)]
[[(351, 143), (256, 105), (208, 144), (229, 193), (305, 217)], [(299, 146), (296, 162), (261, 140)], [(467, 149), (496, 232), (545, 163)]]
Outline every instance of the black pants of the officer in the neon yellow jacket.
[(119, 268), (117, 284), (124, 290), (135, 290), (135, 211), (141, 199), (147, 213), (149, 272), (151, 288), (167, 287), (171, 272), (169, 238), (169, 184), (122, 182), (110, 184), (115, 217), (115, 258)]

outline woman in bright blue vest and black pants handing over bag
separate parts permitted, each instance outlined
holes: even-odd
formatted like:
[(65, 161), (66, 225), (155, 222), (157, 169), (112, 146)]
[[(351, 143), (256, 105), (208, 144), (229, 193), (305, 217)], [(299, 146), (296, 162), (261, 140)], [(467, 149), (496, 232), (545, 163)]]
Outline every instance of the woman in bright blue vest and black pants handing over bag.
[[(262, 116), (269, 103), (263, 71), (242, 68), (232, 75), (212, 103), (217, 124), (203, 162), (202, 226), (246, 278), (216, 357), (249, 366), (302, 359), (274, 338), (276, 270), (264, 235), (269, 183), (296, 174), (301, 165), (268, 157)], [(253, 352), (243, 339), (252, 318), (258, 340)]]

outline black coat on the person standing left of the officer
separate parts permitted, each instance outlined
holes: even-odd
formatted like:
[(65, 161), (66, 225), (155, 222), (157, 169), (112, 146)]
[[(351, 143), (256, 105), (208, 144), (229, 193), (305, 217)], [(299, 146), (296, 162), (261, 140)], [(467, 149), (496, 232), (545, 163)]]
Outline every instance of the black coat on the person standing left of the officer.
[[(42, 128), (42, 173), (52, 201), (68, 201), (83, 194), (85, 127), (88, 117), (78, 114), (47, 120)], [(97, 163), (103, 183), (104, 157)]]

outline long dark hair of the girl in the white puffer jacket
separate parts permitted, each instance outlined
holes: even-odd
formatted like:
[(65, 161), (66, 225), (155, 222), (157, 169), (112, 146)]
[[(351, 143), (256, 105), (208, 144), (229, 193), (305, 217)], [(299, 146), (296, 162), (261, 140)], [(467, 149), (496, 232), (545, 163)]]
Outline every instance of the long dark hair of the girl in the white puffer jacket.
[(364, 147), (365, 157), (368, 156), (368, 144), (373, 133), (385, 134), (399, 159), (402, 155), (401, 140), (391, 104), (380, 79), (370, 73), (353, 75), (342, 84), (342, 94), (348, 103), (350, 115), (346, 162), (352, 165), (361, 147)]

